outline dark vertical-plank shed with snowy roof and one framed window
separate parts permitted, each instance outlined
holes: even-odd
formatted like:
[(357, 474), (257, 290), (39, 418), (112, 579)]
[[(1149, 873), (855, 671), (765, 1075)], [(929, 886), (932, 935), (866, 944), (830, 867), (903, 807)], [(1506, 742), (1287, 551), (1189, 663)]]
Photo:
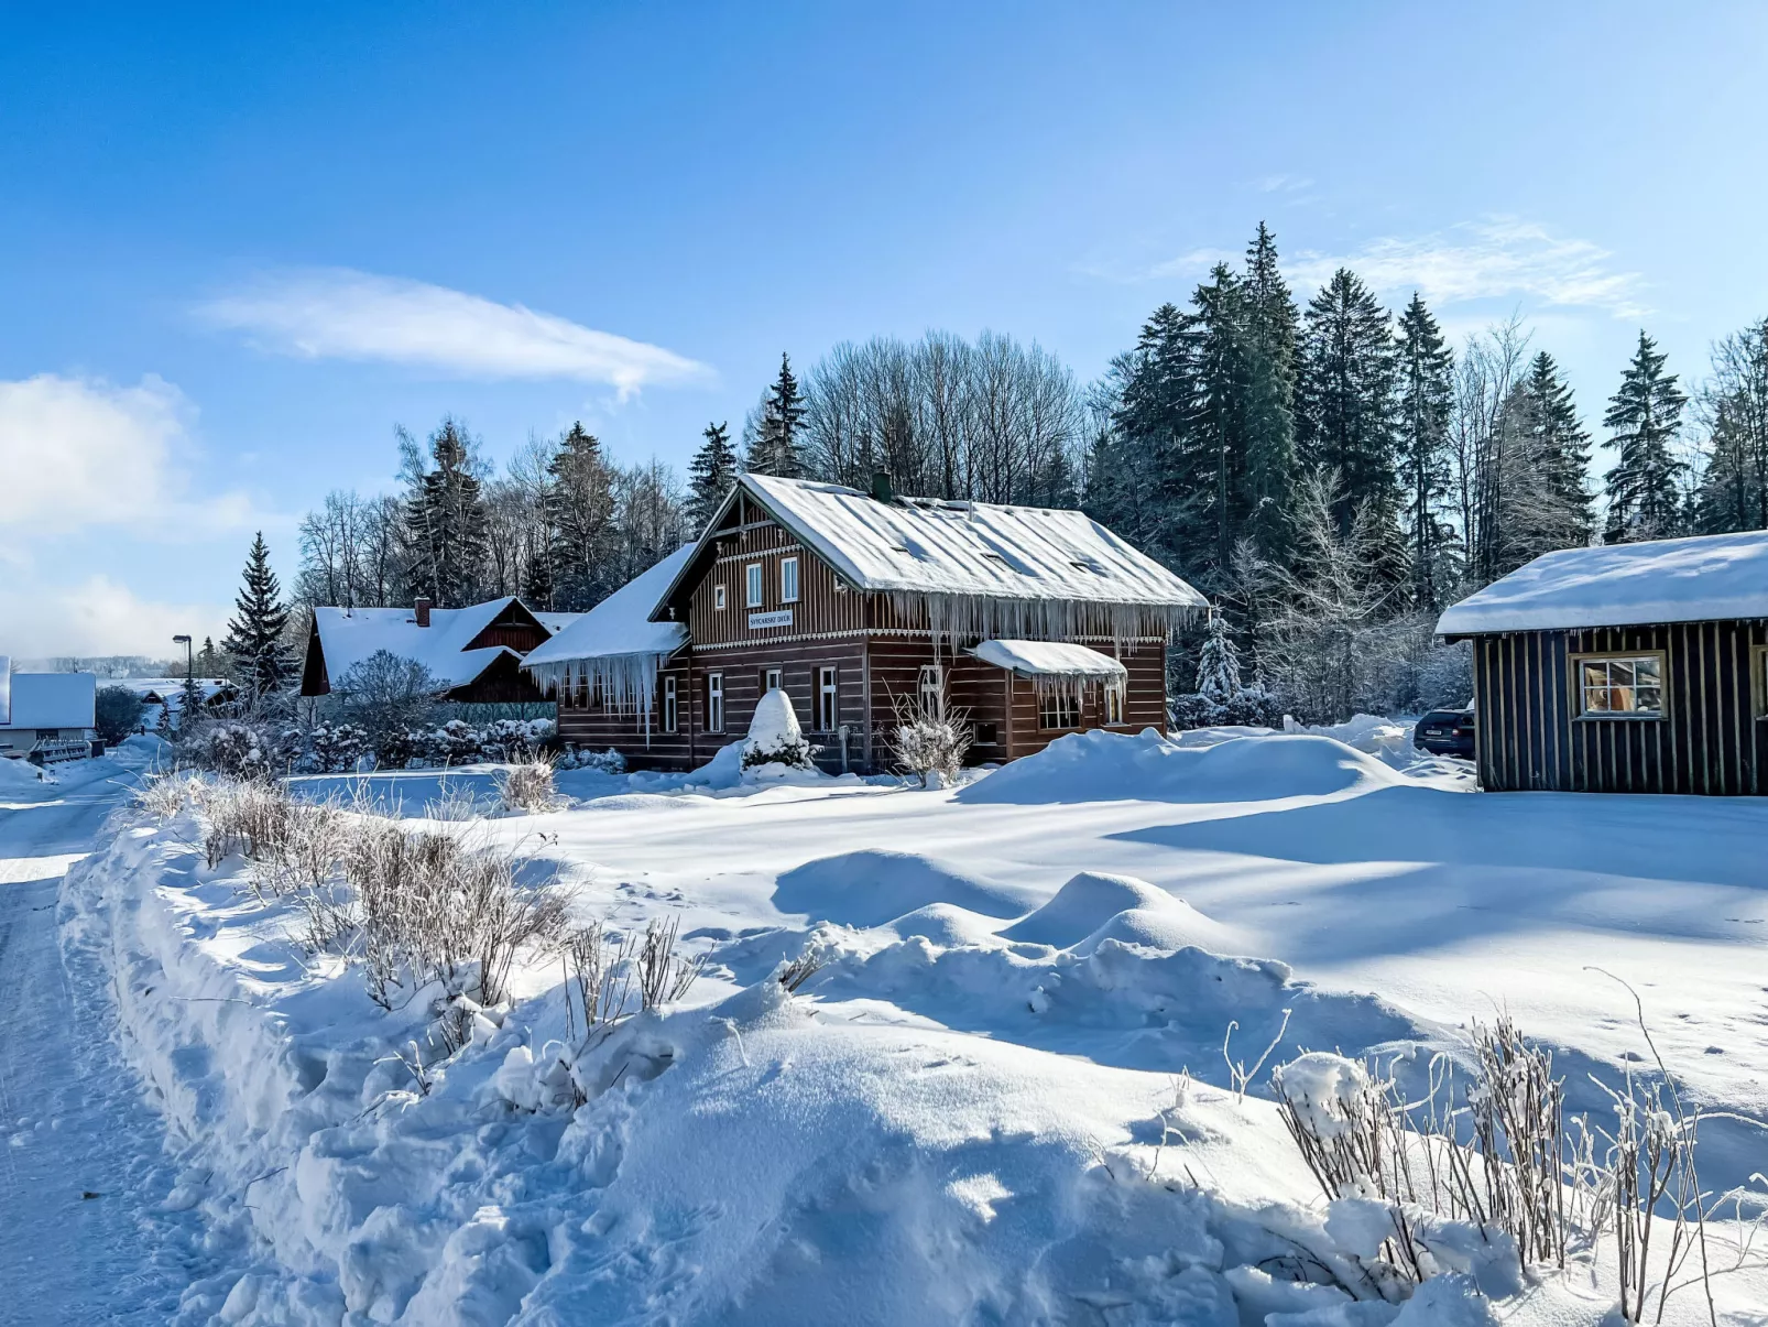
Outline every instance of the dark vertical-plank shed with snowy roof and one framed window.
[(1437, 635), (1489, 791), (1768, 794), (1768, 531), (1551, 552)]

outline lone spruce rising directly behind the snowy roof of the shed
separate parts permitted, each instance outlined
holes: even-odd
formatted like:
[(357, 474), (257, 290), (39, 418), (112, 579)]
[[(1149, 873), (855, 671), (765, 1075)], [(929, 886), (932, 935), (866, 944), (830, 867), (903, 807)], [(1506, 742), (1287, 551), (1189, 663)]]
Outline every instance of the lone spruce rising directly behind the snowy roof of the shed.
[(1681, 533), (1681, 499), (1676, 479), (1685, 469), (1671, 455), (1681, 428), (1687, 396), (1676, 375), (1664, 372), (1664, 354), (1639, 333), (1639, 349), (1621, 373), (1621, 387), (1602, 416), (1609, 430), (1605, 446), (1619, 455), (1605, 476), (1609, 518), (1604, 543), (1637, 543)]

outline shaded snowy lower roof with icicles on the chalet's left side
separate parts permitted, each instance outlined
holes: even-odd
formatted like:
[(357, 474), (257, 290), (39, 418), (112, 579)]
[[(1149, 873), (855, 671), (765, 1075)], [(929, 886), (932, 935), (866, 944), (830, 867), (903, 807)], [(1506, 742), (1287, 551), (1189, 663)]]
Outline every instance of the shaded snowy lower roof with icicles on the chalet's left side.
[(552, 640), (522, 660), (543, 690), (587, 679), (619, 708), (649, 713), (658, 667), (688, 644), (682, 623), (654, 623), (651, 610), (681, 575), (693, 545), (640, 571)]

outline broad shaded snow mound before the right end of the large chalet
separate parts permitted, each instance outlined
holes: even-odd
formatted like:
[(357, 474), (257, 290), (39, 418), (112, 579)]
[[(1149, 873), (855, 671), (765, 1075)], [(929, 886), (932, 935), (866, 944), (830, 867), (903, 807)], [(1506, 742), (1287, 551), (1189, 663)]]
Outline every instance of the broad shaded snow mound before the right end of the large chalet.
[(1155, 729), (1071, 733), (964, 787), (958, 802), (1268, 802), (1404, 782), (1333, 738), (1282, 734), (1179, 747)]

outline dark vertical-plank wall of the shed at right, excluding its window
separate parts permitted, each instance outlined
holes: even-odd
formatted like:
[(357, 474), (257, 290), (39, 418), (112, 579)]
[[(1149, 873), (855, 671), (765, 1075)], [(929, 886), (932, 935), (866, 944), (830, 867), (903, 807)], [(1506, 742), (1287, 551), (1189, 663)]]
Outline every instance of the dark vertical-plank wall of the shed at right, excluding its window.
[[(1768, 794), (1768, 623), (1513, 632), (1473, 639), (1489, 791)], [(1579, 655), (1664, 655), (1662, 718), (1579, 715)]]

